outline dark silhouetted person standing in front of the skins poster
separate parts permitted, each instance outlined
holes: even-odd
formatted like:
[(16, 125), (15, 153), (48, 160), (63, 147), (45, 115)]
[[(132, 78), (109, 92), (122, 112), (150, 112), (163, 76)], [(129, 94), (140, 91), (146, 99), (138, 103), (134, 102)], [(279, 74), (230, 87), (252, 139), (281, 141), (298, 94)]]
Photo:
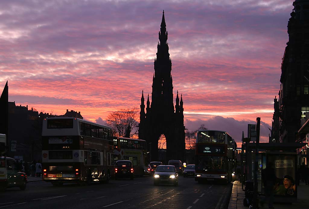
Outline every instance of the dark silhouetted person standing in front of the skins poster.
[(265, 187), (265, 197), (261, 200), (261, 205), (263, 207), (265, 202), (268, 202), (268, 208), (273, 207), (273, 188), (276, 184), (276, 174), (275, 169), (273, 168), (273, 163), (268, 162), (266, 168), (262, 170), (261, 173), (263, 185)]

